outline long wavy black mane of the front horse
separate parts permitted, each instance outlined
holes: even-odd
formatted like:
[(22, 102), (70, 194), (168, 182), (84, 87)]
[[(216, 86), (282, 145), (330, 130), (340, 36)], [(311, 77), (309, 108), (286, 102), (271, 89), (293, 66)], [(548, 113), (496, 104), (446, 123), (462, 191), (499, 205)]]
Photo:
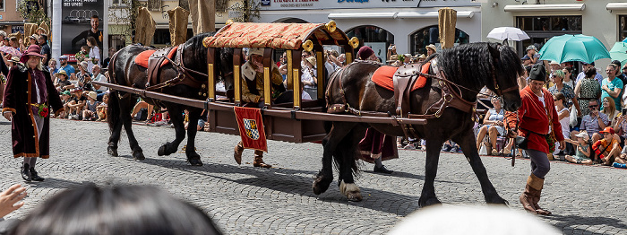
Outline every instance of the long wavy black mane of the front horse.
[(513, 48), (499, 43), (463, 44), (443, 50), (437, 58), (448, 80), (477, 91), (485, 85), (494, 90), (492, 78), (497, 74), (504, 81), (516, 81), (522, 74), (518, 54)]

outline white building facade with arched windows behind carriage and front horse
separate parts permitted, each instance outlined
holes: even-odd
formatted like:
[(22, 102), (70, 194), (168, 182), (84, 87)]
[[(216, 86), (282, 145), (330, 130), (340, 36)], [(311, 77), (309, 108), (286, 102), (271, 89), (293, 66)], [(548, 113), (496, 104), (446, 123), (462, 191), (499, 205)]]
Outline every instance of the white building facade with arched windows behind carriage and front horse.
[(439, 45), (438, 10), (458, 12), (456, 43), (481, 41), (481, 4), (472, 0), (262, 0), (259, 22), (335, 21), (348, 37), (374, 48), (385, 59), (386, 48), (399, 54), (425, 54)]

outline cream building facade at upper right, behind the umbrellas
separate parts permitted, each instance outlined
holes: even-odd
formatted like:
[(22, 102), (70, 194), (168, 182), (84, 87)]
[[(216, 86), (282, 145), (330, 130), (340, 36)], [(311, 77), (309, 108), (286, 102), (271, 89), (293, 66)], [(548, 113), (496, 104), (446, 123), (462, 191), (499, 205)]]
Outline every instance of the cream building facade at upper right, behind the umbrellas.
[[(531, 39), (517, 45), (520, 55), (528, 45), (540, 49), (546, 40), (563, 34), (594, 36), (608, 50), (614, 42), (627, 37), (627, 3), (620, 0), (487, 0), (481, 4), (481, 12), (483, 39), (490, 30), (501, 26), (528, 33)], [(609, 63), (610, 59), (600, 59), (597, 69)], [(605, 70), (599, 69), (599, 73), (602, 71)]]

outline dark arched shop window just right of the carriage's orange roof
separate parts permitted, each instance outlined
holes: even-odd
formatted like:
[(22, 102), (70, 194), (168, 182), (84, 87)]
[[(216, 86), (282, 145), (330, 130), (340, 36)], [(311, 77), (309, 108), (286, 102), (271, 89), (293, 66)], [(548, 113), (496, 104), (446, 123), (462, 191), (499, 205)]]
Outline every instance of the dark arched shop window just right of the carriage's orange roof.
[(359, 39), (360, 48), (364, 45), (373, 48), (374, 54), (382, 59), (382, 63), (385, 63), (387, 58), (385, 55), (387, 48), (394, 43), (394, 35), (391, 32), (372, 25), (353, 28), (348, 30), (346, 34), (348, 39), (353, 37)]

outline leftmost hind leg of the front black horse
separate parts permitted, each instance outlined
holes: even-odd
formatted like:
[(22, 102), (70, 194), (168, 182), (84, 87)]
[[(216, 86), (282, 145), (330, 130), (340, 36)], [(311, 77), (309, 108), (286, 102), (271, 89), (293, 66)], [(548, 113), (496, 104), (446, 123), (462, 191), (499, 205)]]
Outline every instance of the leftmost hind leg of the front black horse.
[(334, 122), (329, 134), (324, 136), (322, 140), (322, 170), (315, 176), (312, 186), (314, 194), (320, 195), (329, 189), (333, 181), (333, 154), (336, 152), (338, 144), (355, 126), (355, 123)]

